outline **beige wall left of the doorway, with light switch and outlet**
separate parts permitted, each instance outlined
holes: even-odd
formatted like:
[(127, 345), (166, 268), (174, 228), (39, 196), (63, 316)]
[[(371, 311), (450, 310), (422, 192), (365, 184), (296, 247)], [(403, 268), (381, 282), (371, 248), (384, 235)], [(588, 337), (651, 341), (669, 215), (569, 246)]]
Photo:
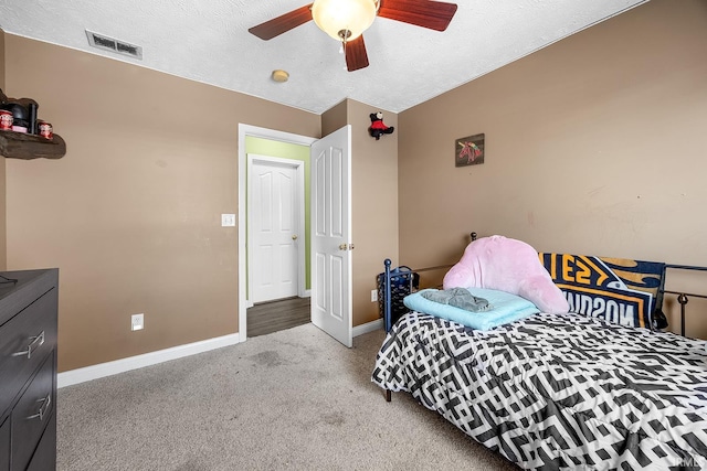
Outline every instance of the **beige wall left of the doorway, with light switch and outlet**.
[(9, 268), (60, 268), (60, 371), (236, 332), (238, 124), (319, 116), (11, 34), (6, 69), (67, 143), (7, 160)]

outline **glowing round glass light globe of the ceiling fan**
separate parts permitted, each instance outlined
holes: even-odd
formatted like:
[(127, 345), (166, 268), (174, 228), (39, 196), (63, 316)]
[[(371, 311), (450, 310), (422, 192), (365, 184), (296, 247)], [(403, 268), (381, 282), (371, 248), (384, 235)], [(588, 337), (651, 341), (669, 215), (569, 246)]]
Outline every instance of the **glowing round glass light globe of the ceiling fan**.
[(378, 1), (374, 0), (314, 0), (312, 18), (321, 31), (337, 41), (341, 41), (341, 32), (346, 41), (352, 41), (363, 34), (373, 24), (378, 13)]

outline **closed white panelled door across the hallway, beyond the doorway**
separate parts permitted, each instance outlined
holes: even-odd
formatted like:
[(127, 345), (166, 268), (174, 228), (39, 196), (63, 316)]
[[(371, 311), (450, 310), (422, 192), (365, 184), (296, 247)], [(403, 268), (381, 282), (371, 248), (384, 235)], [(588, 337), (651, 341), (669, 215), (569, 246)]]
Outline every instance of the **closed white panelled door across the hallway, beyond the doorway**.
[(249, 269), (253, 302), (298, 295), (298, 248), (303, 235), (300, 164), (249, 156)]

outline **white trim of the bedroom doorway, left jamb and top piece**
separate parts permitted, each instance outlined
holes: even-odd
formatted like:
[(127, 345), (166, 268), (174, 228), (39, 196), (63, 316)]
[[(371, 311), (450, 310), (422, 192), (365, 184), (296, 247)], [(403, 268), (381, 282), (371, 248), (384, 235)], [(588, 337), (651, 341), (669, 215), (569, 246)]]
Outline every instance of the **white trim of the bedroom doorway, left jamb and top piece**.
[(247, 339), (247, 250), (245, 246), (246, 239), (246, 179), (247, 179), (247, 154), (245, 153), (245, 137), (268, 139), (274, 141), (294, 143), (299, 146), (312, 146), (317, 138), (308, 136), (294, 135), (291, 132), (276, 131), (274, 129), (261, 128), (257, 126), (244, 125), (239, 122), (239, 199), (238, 199), (238, 220), (239, 220), (239, 340), (245, 342)]

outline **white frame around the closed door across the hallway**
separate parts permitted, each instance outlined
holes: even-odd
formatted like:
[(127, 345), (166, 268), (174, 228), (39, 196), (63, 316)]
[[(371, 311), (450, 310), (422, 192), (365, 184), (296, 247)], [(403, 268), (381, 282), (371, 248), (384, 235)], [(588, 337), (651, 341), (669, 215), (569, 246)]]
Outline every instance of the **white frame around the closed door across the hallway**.
[[(295, 205), (297, 208), (297, 224), (295, 231), (299, 234), (296, 244), (297, 244), (297, 296), (304, 298), (305, 286), (306, 286), (306, 264), (305, 264), (305, 248), (303, 244), (305, 243), (305, 162), (302, 160), (294, 159), (283, 159), (279, 157), (270, 157), (270, 156), (261, 156), (256, 153), (249, 153), (247, 158), (247, 181), (250, 182), (253, 176), (253, 164), (254, 163), (265, 163), (272, 164), (272, 167), (288, 167), (295, 169), (296, 182), (295, 182)], [(253, 185), (247, 185), (247, 214), (252, 214), (253, 203), (255, 203), (255, 199), (253, 196)], [(249, 216), (246, 215), (246, 221)], [(247, 223), (246, 223), (247, 225)], [(247, 248), (247, 279), (249, 281), (253, 279), (253, 264), (250, 260), (253, 260), (253, 240), (255, 240), (255, 235), (253, 234), (253, 228), (247, 225), (247, 239), (251, 244), (246, 244)], [(302, 242), (300, 242), (302, 240)], [(250, 302), (251, 299), (251, 287), (252, 283), (247, 283), (247, 297), (249, 297), (249, 307), (252, 306)]]

